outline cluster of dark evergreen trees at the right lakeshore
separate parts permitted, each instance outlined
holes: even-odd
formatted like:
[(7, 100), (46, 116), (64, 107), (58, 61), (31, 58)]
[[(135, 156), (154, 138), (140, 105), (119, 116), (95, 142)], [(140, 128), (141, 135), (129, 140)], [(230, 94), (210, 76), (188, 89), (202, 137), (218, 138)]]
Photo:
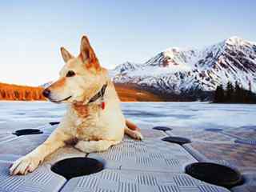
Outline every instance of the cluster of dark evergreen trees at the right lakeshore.
[(238, 82), (235, 82), (233, 86), (231, 82), (228, 82), (226, 89), (222, 85), (217, 86), (214, 92), (214, 102), (218, 103), (256, 103), (256, 94), (251, 91), (249, 84), (249, 90), (239, 86)]

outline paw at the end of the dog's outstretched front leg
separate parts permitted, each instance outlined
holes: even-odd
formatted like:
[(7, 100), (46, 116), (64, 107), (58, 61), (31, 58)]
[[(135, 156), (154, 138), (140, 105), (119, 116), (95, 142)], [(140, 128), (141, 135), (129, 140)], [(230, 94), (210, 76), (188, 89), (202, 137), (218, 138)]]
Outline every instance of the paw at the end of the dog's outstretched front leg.
[(26, 156), (19, 158), (10, 167), (10, 174), (27, 174), (28, 172), (33, 172), (38, 165), (42, 162), (41, 158), (35, 155), (27, 154)]

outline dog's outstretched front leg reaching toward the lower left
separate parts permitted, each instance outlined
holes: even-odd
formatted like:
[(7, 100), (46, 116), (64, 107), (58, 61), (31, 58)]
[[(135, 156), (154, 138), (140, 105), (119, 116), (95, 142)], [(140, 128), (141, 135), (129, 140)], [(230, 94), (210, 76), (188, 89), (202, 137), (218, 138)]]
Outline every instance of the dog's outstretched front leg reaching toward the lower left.
[(65, 146), (65, 141), (69, 138), (70, 135), (65, 134), (61, 129), (54, 130), (42, 145), (16, 160), (10, 167), (10, 174), (27, 174), (34, 171), (47, 155)]

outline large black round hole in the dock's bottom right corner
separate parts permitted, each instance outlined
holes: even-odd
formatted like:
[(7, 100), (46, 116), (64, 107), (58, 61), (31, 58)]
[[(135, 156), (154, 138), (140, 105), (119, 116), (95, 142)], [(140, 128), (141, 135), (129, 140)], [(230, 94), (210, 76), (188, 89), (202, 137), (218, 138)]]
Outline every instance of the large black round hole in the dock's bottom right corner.
[(212, 162), (194, 162), (185, 168), (186, 174), (203, 182), (231, 188), (242, 183), (238, 170)]

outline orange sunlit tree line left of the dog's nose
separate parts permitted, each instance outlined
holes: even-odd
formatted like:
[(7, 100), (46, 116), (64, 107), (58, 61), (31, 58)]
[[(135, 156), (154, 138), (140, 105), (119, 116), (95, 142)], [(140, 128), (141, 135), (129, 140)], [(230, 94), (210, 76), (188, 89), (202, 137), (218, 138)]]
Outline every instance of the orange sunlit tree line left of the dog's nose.
[(42, 95), (42, 87), (0, 83), (0, 100), (36, 101), (46, 100), (46, 98)]

